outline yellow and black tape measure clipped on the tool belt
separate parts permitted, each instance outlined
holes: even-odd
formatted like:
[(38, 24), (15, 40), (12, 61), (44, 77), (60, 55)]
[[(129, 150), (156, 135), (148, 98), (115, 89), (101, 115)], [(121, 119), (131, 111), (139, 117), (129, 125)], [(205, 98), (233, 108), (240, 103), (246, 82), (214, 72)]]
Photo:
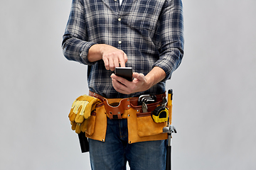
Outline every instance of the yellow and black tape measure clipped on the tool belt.
[(162, 123), (168, 121), (169, 111), (164, 106), (158, 106), (151, 112), (151, 117), (155, 123)]

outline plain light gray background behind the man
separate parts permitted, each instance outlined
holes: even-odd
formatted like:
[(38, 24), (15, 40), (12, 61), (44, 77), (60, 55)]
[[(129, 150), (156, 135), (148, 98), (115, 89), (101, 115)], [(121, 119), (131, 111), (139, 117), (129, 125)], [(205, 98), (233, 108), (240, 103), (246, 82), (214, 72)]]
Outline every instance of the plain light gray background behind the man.
[[(1, 1), (0, 169), (90, 169), (68, 113), (87, 67), (61, 50), (71, 0)], [(256, 169), (256, 1), (183, 0), (173, 169)]]

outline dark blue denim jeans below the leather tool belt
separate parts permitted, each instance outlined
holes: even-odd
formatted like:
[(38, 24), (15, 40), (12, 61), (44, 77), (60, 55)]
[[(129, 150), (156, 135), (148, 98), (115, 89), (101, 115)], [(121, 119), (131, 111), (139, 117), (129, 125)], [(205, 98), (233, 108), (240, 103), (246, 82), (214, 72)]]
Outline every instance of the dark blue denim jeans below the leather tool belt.
[(166, 140), (128, 144), (127, 119), (107, 118), (105, 142), (89, 139), (92, 170), (165, 170)]

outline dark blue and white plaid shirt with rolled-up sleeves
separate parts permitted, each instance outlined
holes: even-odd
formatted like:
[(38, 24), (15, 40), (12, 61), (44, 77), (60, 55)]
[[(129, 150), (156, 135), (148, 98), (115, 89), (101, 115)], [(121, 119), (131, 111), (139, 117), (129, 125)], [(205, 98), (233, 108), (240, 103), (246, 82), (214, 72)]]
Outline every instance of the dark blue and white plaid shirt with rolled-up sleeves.
[[(181, 0), (123, 0), (121, 6), (119, 0), (73, 0), (63, 54), (68, 60), (91, 65), (89, 89), (106, 98), (162, 94), (183, 57), (182, 10)], [(166, 78), (147, 91), (119, 94), (104, 62), (87, 60), (89, 48), (96, 43), (123, 50), (128, 57), (126, 67), (134, 72), (146, 75), (153, 67), (161, 67)]]

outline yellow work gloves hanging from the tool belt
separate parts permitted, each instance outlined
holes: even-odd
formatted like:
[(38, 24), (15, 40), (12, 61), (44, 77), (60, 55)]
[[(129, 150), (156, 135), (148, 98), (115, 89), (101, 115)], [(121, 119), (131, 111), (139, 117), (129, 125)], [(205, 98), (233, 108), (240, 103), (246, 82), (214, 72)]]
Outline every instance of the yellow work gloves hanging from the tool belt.
[(75, 99), (68, 115), (72, 130), (75, 130), (76, 133), (80, 133), (81, 130), (85, 132), (87, 119), (90, 118), (91, 112), (95, 110), (97, 103), (100, 103), (99, 99), (87, 95)]

